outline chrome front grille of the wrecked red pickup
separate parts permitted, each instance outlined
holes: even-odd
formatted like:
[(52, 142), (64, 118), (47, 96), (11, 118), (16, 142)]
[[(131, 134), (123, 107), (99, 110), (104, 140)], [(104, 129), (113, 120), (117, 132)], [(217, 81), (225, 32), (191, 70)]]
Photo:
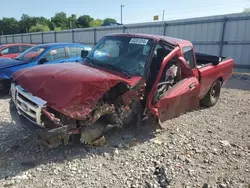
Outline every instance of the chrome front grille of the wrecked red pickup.
[(40, 127), (44, 127), (42, 122), (42, 110), (46, 107), (46, 101), (25, 91), (20, 85), (11, 84), (11, 98), (15, 104), (19, 115)]

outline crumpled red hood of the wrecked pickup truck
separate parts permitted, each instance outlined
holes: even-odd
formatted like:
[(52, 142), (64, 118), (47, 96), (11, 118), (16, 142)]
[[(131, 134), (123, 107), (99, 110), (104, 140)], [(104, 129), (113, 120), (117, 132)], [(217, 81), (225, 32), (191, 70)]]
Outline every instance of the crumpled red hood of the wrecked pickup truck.
[(13, 74), (13, 80), (27, 92), (47, 101), (49, 107), (79, 120), (117, 83), (133, 86), (140, 79), (126, 79), (79, 63), (40, 65)]

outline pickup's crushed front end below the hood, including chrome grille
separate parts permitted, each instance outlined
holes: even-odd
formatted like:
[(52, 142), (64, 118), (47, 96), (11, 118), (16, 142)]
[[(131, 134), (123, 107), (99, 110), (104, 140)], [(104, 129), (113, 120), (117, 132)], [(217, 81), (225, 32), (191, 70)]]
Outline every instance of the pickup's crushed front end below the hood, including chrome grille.
[[(140, 94), (138, 89), (119, 83), (98, 99), (93, 108), (75, 106), (70, 113), (51, 108), (47, 101), (33, 96), (14, 82), (11, 85), (17, 112), (43, 128), (37, 132), (37, 138), (49, 148), (68, 144), (74, 137), (84, 144), (98, 145), (98, 141), (103, 142), (105, 132), (122, 128), (137, 118), (141, 111)], [(79, 108), (84, 109), (85, 115), (74, 110)]]

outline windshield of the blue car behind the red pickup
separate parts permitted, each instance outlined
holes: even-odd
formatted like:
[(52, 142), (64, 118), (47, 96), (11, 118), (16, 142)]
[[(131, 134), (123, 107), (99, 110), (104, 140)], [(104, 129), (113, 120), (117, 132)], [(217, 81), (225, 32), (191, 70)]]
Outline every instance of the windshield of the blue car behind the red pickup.
[(16, 60), (20, 60), (20, 61), (33, 61), (35, 60), (43, 51), (45, 50), (45, 48), (43, 47), (32, 47), (28, 50), (26, 50), (25, 52), (23, 52), (22, 54), (20, 54), (19, 56), (17, 56), (15, 59)]

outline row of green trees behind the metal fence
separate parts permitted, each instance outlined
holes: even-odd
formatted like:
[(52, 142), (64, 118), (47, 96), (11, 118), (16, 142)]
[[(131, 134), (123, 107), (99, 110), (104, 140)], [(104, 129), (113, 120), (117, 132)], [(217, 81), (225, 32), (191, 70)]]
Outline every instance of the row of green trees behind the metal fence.
[(50, 19), (23, 14), (20, 20), (13, 17), (0, 19), (0, 35), (98, 27), (105, 22), (116, 23), (116, 20), (113, 18), (94, 19), (89, 15), (77, 17), (75, 14), (68, 17), (65, 12), (58, 12)]

